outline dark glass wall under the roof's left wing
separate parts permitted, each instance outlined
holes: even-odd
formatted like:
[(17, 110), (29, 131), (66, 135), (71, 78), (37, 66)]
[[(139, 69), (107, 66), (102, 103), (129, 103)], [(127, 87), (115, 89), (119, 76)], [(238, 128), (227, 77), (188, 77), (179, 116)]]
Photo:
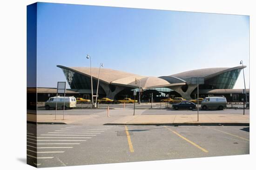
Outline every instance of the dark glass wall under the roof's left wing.
[[(67, 82), (70, 88), (73, 89), (91, 89), (91, 78), (83, 76), (81, 74), (75, 73), (74, 71), (70, 71), (68, 69), (62, 69), (64, 75), (67, 78)], [(97, 81), (93, 79), (93, 87), (97, 87)], [(102, 89), (99, 85), (99, 90)]]

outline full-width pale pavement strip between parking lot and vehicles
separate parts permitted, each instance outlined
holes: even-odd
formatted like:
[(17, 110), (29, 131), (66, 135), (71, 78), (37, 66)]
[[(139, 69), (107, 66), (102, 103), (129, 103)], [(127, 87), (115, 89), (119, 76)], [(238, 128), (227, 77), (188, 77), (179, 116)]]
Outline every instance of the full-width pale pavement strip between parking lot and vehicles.
[(249, 115), (238, 114), (172, 114), (172, 115), (117, 115), (105, 112), (91, 115), (35, 115), (27, 113), (27, 122), (38, 124), (97, 124), (97, 125), (229, 125), (249, 126)]

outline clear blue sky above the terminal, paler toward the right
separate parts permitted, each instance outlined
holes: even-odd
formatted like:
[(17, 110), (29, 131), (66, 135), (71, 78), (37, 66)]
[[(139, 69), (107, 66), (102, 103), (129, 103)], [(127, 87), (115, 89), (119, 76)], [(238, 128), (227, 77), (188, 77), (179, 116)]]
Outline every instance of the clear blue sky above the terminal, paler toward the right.
[[(86, 54), (93, 67), (143, 76), (243, 60), (249, 88), (249, 16), (38, 3), (38, 87), (66, 80), (58, 64), (89, 67)], [(244, 88), (243, 72), (234, 88)]]

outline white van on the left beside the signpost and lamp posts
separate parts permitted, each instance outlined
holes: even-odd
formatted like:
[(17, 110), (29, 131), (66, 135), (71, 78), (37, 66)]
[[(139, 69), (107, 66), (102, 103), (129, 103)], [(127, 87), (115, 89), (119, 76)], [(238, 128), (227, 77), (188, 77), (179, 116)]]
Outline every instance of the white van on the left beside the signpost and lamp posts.
[[(65, 106), (64, 106), (64, 100), (65, 100)], [(57, 102), (57, 107), (61, 107), (62, 109), (65, 107), (67, 108), (73, 108), (76, 107), (76, 100), (74, 96), (71, 97), (50, 97), (48, 101), (45, 102), (45, 109), (49, 110), (50, 108), (56, 108), (56, 102)]]

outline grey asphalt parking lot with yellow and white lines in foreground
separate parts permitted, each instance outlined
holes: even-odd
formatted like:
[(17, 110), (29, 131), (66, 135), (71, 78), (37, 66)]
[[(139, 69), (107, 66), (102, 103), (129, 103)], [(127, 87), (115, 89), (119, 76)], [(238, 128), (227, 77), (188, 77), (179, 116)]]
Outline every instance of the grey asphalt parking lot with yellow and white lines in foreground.
[(37, 150), (38, 167), (249, 154), (245, 126), (37, 125), (37, 135), (33, 128), (28, 161)]

